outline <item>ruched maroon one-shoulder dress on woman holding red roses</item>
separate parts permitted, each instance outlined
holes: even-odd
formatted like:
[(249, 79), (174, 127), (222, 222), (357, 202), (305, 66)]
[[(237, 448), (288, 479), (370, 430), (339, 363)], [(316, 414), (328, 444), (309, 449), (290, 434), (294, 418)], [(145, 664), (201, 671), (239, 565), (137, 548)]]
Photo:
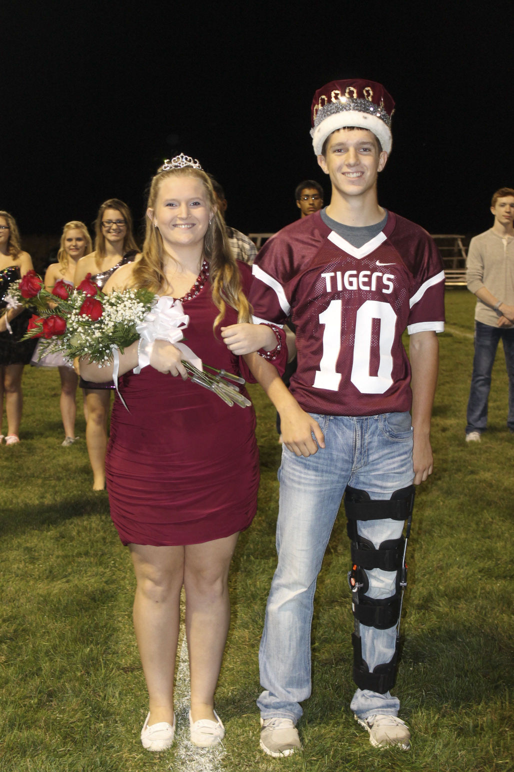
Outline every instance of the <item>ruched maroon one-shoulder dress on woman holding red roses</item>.
[[(242, 266), (245, 293), (251, 281)], [(184, 302), (184, 343), (205, 364), (249, 378), (212, 324), (211, 286)], [(227, 306), (223, 326), (235, 324)], [(242, 371), (242, 372), (241, 372)], [(107, 449), (110, 513), (124, 544), (184, 545), (249, 526), (257, 508), (259, 451), (253, 407), (232, 408), (198, 384), (144, 367), (120, 378)], [(245, 396), (248, 394), (245, 393)]]

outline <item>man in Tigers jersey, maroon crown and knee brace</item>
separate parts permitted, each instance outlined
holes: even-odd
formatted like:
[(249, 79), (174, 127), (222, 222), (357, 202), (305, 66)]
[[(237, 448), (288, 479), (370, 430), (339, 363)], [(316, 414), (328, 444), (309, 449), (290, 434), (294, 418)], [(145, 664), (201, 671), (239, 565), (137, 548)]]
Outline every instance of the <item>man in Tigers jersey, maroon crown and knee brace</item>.
[[(404, 521), (408, 536), (413, 483), (432, 472), (445, 275), (428, 233), (378, 203), (393, 108), (384, 87), (367, 80), (316, 92), (311, 136), (332, 183), (330, 205), (279, 231), (253, 266), (255, 320), (291, 319), (298, 348), (290, 391), (277, 376), (264, 384), (285, 445), (278, 566), (259, 651), (261, 747), (276, 757), (301, 748), (296, 723), (311, 689), (316, 578), (343, 494), (357, 684), (350, 707), (374, 746), (410, 747), (390, 689), (406, 583)], [(244, 348), (243, 328), (229, 328), (229, 347)]]

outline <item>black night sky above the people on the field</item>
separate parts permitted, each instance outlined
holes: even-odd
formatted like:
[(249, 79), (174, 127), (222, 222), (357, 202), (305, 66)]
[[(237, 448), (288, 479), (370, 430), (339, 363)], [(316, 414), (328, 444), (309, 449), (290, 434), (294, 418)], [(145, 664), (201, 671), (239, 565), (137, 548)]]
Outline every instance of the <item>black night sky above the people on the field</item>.
[(512, 2), (5, 2), (0, 208), (22, 233), (90, 224), (116, 196), (140, 220), (164, 157), (198, 157), (227, 221), (273, 231), (296, 183), (326, 189), (314, 91), (364, 76), (396, 102), (382, 205), (430, 232), (480, 232), (514, 186)]

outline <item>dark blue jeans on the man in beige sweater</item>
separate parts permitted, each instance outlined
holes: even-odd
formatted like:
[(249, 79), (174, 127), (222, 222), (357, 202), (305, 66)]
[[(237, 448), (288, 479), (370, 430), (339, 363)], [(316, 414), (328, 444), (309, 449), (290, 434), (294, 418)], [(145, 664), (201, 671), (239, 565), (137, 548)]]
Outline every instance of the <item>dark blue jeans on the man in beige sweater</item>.
[(487, 402), (491, 388), (492, 366), (495, 364), (500, 338), (509, 375), (507, 426), (514, 432), (514, 327), (491, 327), (489, 324), (475, 322), (475, 357), (469, 390), (466, 434), (485, 432), (487, 428)]

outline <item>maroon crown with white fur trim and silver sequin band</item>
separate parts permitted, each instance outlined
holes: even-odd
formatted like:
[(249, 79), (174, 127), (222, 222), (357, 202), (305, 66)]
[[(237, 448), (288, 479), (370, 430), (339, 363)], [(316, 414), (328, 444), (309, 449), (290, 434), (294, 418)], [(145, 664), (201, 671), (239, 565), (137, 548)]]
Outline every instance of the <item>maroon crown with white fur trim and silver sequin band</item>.
[(368, 129), (378, 137), (384, 151), (391, 153), (391, 118), (394, 101), (374, 80), (332, 80), (314, 94), (310, 135), (316, 155), (333, 131), (345, 126)]

